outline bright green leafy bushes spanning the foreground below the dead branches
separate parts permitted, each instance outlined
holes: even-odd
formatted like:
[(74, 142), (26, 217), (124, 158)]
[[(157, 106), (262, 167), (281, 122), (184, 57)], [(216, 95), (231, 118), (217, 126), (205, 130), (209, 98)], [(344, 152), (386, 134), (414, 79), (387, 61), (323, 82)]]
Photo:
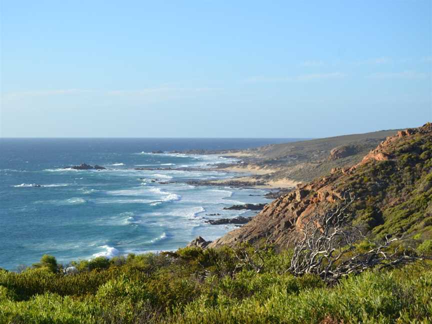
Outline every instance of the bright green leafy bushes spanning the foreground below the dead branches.
[(314, 275), (288, 273), (288, 253), (266, 249), (255, 260), (265, 264), (259, 272), (253, 262), (239, 267), (238, 253), (182, 248), (130, 254), (74, 263), (72, 274), (44, 256), (21, 273), (0, 270), (0, 322), (432, 322), (427, 261), (348, 275), (328, 286)]

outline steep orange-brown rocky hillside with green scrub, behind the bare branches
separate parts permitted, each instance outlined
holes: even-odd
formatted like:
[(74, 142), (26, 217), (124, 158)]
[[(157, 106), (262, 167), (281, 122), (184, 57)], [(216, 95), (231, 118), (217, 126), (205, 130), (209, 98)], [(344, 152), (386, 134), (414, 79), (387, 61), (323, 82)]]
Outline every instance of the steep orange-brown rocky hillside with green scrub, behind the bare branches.
[(279, 246), (296, 235), (303, 220), (352, 192), (352, 221), (371, 235), (405, 230), (432, 235), (432, 123), (398, 131), (350, 168), (298, 185), (267, 204), (250, 222), (208, 246), (254, 242), (269, 236)]

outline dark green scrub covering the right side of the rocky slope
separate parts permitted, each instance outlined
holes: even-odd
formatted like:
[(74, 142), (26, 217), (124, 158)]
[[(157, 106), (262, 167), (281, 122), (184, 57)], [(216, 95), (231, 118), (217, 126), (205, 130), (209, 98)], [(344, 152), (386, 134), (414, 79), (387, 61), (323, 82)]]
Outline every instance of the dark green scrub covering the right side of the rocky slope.
[(414, 134), (394, 141), (392, 157), (371, 161), (335, 184), (355, 192), (354, 222), (371, 234), (417, 234), (432, 238), (432, 134)]

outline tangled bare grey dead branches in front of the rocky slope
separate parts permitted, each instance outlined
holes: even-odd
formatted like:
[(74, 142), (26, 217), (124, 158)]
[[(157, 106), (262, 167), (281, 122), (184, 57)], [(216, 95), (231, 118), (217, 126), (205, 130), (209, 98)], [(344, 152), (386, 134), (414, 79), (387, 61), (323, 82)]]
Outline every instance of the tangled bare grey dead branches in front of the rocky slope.
[[(369, 240), (363, 231), (349, 220), (348, 207), (354, 197), (345, 192), (334, 208), (317, 211), (303, 222), (299, 235), (294, 239), (289, 271), (294, 275), (317, 274), (328, 283), (336, 282), (349, 273), (366, 269), (390, 267), (423, 259), (412, 249), (393, 246), (403, 240), (399, 236), (386, 235), (381, 242)], [(366, 251), (359, 252), (356, 244), (367, 242)]]

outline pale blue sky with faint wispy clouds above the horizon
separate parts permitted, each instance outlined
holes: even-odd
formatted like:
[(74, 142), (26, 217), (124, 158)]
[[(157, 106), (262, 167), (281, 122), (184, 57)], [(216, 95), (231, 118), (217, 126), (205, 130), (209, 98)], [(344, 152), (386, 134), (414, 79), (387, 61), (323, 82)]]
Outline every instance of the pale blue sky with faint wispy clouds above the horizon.
[(0, 0), (5, 137), (321, 137), (432, 119), (430, 0)]

